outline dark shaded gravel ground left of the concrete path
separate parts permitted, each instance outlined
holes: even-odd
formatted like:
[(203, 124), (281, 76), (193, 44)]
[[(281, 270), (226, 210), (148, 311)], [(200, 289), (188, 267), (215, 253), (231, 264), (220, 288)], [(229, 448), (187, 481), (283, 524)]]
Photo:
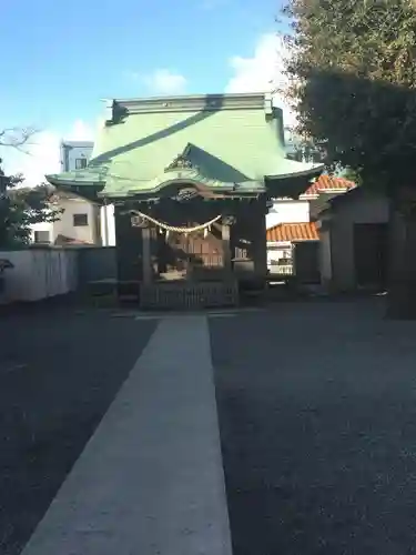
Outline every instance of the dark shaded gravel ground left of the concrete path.
[(20, 553), (155, 325), (69, 310), (1, 317), (0, 555)]

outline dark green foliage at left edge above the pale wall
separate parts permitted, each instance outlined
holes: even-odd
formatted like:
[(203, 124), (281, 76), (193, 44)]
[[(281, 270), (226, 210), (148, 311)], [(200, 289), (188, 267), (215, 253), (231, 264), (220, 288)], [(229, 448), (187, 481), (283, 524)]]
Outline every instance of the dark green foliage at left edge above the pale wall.
[(32, 224), (53, 222), (62, 212), (50, 205), (49, 185), (20, 188), (23, 182), (22, 175), (7, 176), (0, 168), (0, 249), (24, 246), (30, 241)]

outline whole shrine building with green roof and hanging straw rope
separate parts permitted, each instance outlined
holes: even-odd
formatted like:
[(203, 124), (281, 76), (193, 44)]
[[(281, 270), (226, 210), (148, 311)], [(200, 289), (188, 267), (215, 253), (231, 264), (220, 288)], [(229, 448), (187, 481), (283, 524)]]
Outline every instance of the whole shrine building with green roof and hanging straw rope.
[(88, 168), (47, 179), (114, 204), (119, 279), (143, 307), (200, 307), (264, 283), (267, 202), (322, 170), (285, 158), (267, 97), (209, 94), (111, 101)]

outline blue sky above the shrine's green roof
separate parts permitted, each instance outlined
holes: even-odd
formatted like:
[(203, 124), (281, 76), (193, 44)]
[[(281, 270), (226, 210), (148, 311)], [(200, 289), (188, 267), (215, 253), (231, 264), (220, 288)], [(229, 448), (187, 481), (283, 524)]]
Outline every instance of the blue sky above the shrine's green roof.
[(278, 0), (3, 3), (0, 129), (90, 138), (100, 99), (262, 90), (273, 72)]

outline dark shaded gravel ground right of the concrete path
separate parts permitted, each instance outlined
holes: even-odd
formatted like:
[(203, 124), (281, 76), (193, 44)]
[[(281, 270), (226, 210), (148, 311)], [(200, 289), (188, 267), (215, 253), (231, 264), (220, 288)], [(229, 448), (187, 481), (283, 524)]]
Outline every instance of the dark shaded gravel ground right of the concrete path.
[(416, 553), (416, 323), (379, 309), (211, 322), (234, 555)]

